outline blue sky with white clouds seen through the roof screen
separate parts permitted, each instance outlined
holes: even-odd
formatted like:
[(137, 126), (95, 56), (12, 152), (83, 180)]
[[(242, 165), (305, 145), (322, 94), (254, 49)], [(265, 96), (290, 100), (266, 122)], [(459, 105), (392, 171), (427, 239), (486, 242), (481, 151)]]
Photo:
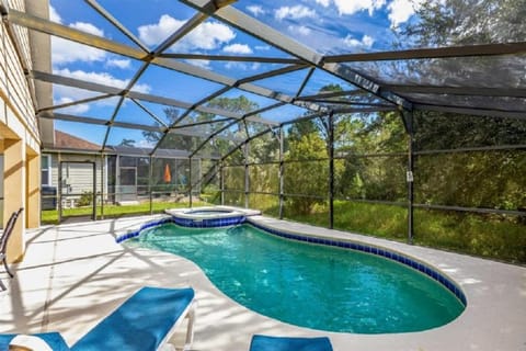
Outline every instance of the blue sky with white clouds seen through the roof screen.
[[(361, 53), (389, 49), (395, 41), (393, 29), (411, 21), (422, 0), (239, 0), (232, 5), (254, 16), (266, 25), (284, 33), (320, 54)], [(156, 48), (170, 34), (191, 19), (196, 11), (174, 0), (99, 0), (114, 18), (124, 24), (149, 49)], [(50, 20), (93, 35), (111, 38), (137, 47), (111, 23), (81, 0), (50, 0)], [(244, 55), (263, 57), (289, 57), (288, 54), (247, 35), (217, 20), (209, 19), (187, 34), (167, 53), (209, 55)], [(52, 38), (53, 71), (60, 76), (124, 88), (141, 66), (140, 61), (112, 53)], [(278, 64), (226, 63), (187, 60), (186, 64), (214, 70), (236, 79), (250, 77), (270, 69), (283, 67)], [(256, 84), (294, 94), (298, 82), (307, 70), (289, 73), (279, 79), (266, 79)], [(317, 83), (306, 87), (304, 93), (315, 93), (323, 84), (339, 83), (352, 89), (348, 83), (324, 73), (316, 72)], [(179, 101), (194, 103), (222, 88), (205, 81), (151, 65), (133, 90), (153, 95), (165, 95)], [(232, 89), (226, 97), (244, 94), (260, 106), (275, 101)], [(93, 97), (93, 92), (70, 87), (54, 86), (54, 103), (61, 104)], [(117, 99), (105, 99), (92, 103), (56, 110), (59, 113), (110, 120)], [(164, 123), (165, 106), (144, 103), (151, 113)], [(184, 112), (181, 110), (181, 113)], [(295, 107), (279, 110), (279, 115), (268, 113), (265, 117), (282, 122), (305, 111)], [(153, 125), (153, 118), (134, 102), (126, 100), (115, 121)], [(92, 126), (73, 122), (56, 121), (56, 128), (77, 135), (92, 143), (102, 144), (105, 126)], [(112, 128), (107, 144), (119, 144), (123, 138), (136, 140), (136, 146), (151, 146), (140, 131)]]

